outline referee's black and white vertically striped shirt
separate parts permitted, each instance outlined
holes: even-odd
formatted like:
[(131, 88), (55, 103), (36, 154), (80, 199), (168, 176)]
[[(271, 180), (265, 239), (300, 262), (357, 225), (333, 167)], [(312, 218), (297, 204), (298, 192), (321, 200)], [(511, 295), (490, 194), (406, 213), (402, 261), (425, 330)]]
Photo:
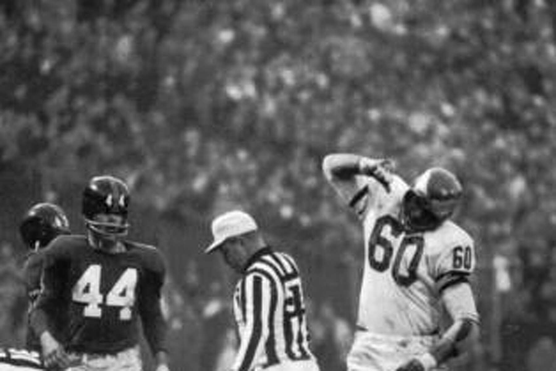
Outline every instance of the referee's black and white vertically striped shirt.
[(240, 347), (232, 370), (314, 358), (299, 269), (291, 256), (264, 248), (251, 257), (236, 285), (234, 315)]

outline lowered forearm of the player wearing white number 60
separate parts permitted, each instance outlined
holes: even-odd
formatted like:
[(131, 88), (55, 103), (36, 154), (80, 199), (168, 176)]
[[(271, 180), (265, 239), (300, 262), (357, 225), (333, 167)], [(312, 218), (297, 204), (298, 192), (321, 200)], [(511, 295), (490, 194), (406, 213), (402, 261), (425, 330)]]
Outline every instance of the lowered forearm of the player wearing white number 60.
[(471, 318), (456, 320), (444, 333), (429, 353), (434, 357), (437, 364), (441, 364), (450, 358), (465, 353), (479, 334), (478, 323)]

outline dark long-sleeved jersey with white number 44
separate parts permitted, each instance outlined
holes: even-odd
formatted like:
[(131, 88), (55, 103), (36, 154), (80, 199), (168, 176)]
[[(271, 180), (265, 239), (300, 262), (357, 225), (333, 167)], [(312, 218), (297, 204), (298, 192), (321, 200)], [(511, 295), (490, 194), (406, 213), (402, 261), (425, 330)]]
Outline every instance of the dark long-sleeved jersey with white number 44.
[(139, 342), (138, 320), (153, 352), (165, 349), (160, 306), (165, 265), (152, 246), (123, 241), (110, 254), (92, 248), (86, 236), (60, 236), (44, 250), (41, 293), (31, 322), (47, 328), (52, 303), (62, 300), (68, 315), (69, 352), (112, 354)]

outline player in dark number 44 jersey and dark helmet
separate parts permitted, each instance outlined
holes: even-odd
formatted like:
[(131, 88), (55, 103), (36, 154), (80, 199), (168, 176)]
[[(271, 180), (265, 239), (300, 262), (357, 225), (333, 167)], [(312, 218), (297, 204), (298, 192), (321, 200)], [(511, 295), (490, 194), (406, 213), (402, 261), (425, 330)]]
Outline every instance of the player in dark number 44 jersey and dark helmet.
[[(68, 370), (140, 371), (139, 326), (155, 356), (157, 371), (167, 371), (166, 321), (161, 288), (165, 263), (160, 251), (127, 240), (128, 187), (113, 176), (93, 177), (82, 196), (86, 235), (59, 236), (44, 250), (42, 285), (31, 315), (40, 334), (47, 367), (67, 367), (69, 355), (81, 358)], [(52, 303), (64, 300), (67, 342), (53, 337)]]

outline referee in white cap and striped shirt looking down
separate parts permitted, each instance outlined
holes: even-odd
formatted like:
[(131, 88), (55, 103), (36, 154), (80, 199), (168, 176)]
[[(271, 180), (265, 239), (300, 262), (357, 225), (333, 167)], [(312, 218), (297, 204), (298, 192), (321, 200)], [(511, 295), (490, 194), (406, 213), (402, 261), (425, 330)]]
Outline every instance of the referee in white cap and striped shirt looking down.
[(319, 371), (309, 350), (301, 277), (291, 256), (266, 244), (255, 220), (234, 210), (212, 221), (214, 242), (241, 274), (234, 292), (240, 344), (232, 371)]

